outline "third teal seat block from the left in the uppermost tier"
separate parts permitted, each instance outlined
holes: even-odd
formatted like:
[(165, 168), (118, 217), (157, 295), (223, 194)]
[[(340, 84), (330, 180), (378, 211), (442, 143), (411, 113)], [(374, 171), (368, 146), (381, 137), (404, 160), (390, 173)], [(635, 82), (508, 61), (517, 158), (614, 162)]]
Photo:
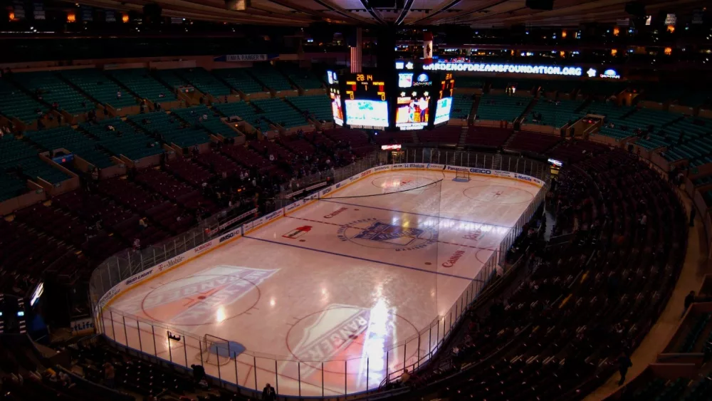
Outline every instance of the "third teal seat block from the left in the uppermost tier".
[[(111, 105), (115, 109), (137, 105), (136, 99), (130, 93), (95, 68), (67, 70), (61, 74), (98, 103)], [(117, 97), (119, 92), (121, 98)]]

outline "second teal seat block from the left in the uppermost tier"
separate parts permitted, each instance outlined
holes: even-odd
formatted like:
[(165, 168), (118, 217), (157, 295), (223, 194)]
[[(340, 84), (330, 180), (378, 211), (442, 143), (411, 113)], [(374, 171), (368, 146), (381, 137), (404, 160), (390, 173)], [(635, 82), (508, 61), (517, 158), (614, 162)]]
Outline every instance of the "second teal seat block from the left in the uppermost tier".
[(50, 105), (57, 103), (60, 110), (78, 115), (94, 110), (93, 101), (72, 88), (51, 71), (17, 73), (14, 79), (32, 93), (37, 93)]

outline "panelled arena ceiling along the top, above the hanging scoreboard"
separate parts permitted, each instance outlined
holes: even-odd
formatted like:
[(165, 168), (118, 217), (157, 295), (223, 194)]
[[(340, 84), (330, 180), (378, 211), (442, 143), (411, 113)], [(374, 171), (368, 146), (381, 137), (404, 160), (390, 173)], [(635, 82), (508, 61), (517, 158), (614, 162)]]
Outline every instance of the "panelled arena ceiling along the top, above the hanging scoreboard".
[[(374, 9), (368, 0), (251, 0), (246, 11), (226, 9), (225, 0), (155, 0), (164, 16), (204, 21), (275, 26), (308, 26), (325, 21), (348, 25), (429, 26), (457, 24), (473, 28), (579, 26), (626, 18), (630, 0), (554, 0), (554, 9), (528, 9), (525, 0), (403, 0), (400, 9)], [(145, 0), (79, 0), (80, 4), (118, 11), (142, 11)], [(645, 0), (646, 14), (678, 15), (706, 6), (704, 0)]]

